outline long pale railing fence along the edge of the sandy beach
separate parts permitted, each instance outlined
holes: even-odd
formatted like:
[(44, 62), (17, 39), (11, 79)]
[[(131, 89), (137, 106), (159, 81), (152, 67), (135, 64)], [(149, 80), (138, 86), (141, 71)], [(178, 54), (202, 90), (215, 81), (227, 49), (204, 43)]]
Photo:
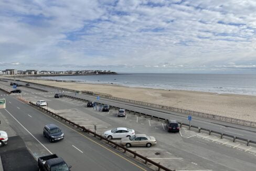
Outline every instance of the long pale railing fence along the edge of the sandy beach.
[[(19, 80), (19, 81), (21, 81), (21, 80)], [(28, 81), (23, 81), (23, 82), (28, 82)], [(34, 83), (34, 82), (28, 82), (28, 83), (33, 83), (33, 84), (37, 84), (40, 86), (45, 86), (45, 87), (49, 87), (49, 88), (60, 89), (60, 90), (65, 90), (65, 91), (70, 91), (70, 92), (78, 92), (78, 93), (80, 92), (80, 91), (71, 90), (71, 89), (47, 86), (44, 84), (39, 84), (39, 83)], [(240, 125), (256, 127), (256, 122), (236, 119), (233, 117), (226, 117), (226, 116), (220, 116), (220, 115), (216, 115), (216, 114), (209, 114), (209, 113), (204, 113), (204, 112), (197, 112), (197, 111), (192, 111), (192, 110), (174, 108), (172, 106), (165, 106), (165, 105), (147, 103), (147, 102), (142, 102), (142, 101), (117, 98), (117, 97), (112, 97), (111, 95), (108, 95), (108, 94), (95, 93), (92, 91), (81, 91), (81, 92), (84, 94), (95, 95), (95, 96), (100, 95), (101, 97), (106, 98), (106, 99), (112, 99), (112, 100), (116, 100), (116, 101), (123, 101), (123, 102), (128, 102), (128, 103), (133, 103), (133, 104), (145, 105), (145, 106), (150, 106), (152, 108), (157, 108), (157, 109), (163, 109), (163, 110), (179, 112), (179, 113), (184, 113), (184, 114), (190, 114), (190, 115), (195, 115), (195, 116), (200, 116), (200, 117), (207, 117), (209, 119), (214, 119), (214, 120), (219, 120), (219, 121), (225, 121), (225, 122), (231, 122), (231, 123), (236, 123), (236, 124), (240, 124)]]

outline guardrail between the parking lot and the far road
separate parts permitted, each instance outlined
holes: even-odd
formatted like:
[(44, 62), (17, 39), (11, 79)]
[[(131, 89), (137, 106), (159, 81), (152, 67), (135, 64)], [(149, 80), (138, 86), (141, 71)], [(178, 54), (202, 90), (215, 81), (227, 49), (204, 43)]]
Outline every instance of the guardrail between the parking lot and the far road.
[[(71, 98), (71, 99), (76, 99), (76, 100), (80, 100), (80, 101), (84, 101), (84, 102), (88, 102), (88, 100), (85, 100), (85, 99), (81, 99), (81, 98), (77, 98), (77, 97), (72, 97), (70, 95), (66, 95), (66, 94), (63, 94), (63, 97), (67, 97), (67, 98)], [(103, 103), (97, 103), (97, 104), (103, 104)], [(103, 104), (104, 105), (104, 104)], [(119, 107), (117, 106), (112, 106), (110, 105), (111, 108), (113, 109), (120, 109)], [(122, 108), (123, 109), (123, 108)], [(150, 114), (146, 114), (146, 113), (141, 113), (141, 112), (135, 112), (135, 111), (131, 111), (131, 110), (127, 110), (125, 109), (127, 112), (129, 113), (134, 113), (134, 114), (137, 114), (138, 116), (144, 116), (144, 117), (149, 117), (151, 118), (152, 120), (155, 119), (157, 121), (161, 121), (161, 122), (165, 122), (167, 121), (167, 119), (165, 118), (162, 118), (162, 117), (158, 117), (158, 116), (154, 116), (154, 115), (150, 115)], [(227, 137), (231, 137), (233, 138), (233, 142), (235, 142), (236, 140), (241, 140), (241, 141), (244, 141), (246, 142), (247, 146), (249, 146), (249, 143), (254, 143), (256, 144), (255, 141), (251, 141), (251, 140), (247, 140), (245, 138), (241, 138), (241, 137), (238, 137), (238, 136), (233, 136), (233, 135), (229, 135), (229, 134), (225, 134), (225, 133), (221, 133), (221, 132), (217, 132), (217, 131), (214, 131), (214, 130), (209, 130), (209, 129), (205, 129), (205, 128), (202, 128), (202, 127), (198, 127), (198, 126), (195, 126), (195, 125), (189, 125), (189, 124), (186, 124), (186, 123), (182, 123), (182, 122), (178, 122), (180, 124), (180, 127), (182, 127), (183, 125), (185, 126), (188, 126), (189, 127), (189, 130), (190, 130), (190, 127), (193, 127), (195, 129), (198, 129), (198, 132), (200, 133), (201, 130), (203, 131), (206, 131), (206, 132), (209, 132), (209, 135), (211, 135), (211, 133), (215, 133), (215, 134), (219, 134), (220, 135), (220, 138), (222, 139), (223, 136), (227, 136)]]

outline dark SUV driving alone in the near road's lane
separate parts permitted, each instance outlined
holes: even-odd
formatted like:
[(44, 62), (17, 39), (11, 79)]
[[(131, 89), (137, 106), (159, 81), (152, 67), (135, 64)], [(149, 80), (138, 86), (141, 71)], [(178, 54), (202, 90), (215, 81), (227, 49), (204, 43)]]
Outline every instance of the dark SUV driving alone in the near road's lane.
[(55, 124), (48, 124), (44, 127), (44, 137), (48, 138), (49, 142), (63, 140), (64, 134)]

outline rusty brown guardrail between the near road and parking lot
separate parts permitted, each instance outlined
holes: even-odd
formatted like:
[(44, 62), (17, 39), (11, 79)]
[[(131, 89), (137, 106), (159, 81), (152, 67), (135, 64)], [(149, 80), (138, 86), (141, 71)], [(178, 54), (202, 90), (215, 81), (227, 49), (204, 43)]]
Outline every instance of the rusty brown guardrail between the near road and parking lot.
[(44, 109), (44, 108), (42, 108), (41, 106), (36, 105), (35, 103), (32, 103), (32, 102), (29, 102), (29, 103), (30, 103), (31, 105), (36, 106), (37, 108), (39, 108), (39, 109), (45, 111), (46, 113), (49, 113), (49, 114), (51, 114), (51, 115), (54, 115), (54, 116), (58, 117), (59, 119), (61, 119), (61, 120), (65, 121), (65, 122), (71, 124), (72, 126), (81, 129), (83, 132), (86, 132), (86, 133), (88, 133), (88, 134), (92, 134), (94, 137), (98, 137), (98, 138), (100, 138), (100, 140), (104, 140), (104, 141), (106, 141), (106, 143), (112, 144), (112, 145), (114, 146), (114, 148), (117, 148), (117, 147), (118, 147), (118, 149), (119, 149), (119, 148), (123, 149), (123, 151), (124, 151), (123, 153), (129, 152), (130, 154), (133, 155), (134, 158), (136, 158), (136, 157), (141, 158), (141, 159), (144, 161), (145, 164), (150, 163), (150, 164), (156, 166), (156, 167), (158, 168), (158, 170), (163, 169), (163, 170), (166, 170), (166, 171), (175, 171), (175, 170), (171, 170), (171, 169), (169, 169), (169, 168), (166, 168), (166, 167), (164, 167), (164, 166), (162, 166), (162, 165), (160, 165), (160, 164), (158, 164), (158, 163), (152, 161), (151, 159), (148, 159), (147, 157), (144, 157), (144, 156), (142, 156), (142, 155), (140, 155), (140, 154), (138, 154), (138, 153), (136, 153), (136, 152), (133, 152), (131, 149), (128, 149), (128, 148), (126, 148), (126, 147), (124, 147), (124, 146), (122, 146), (122, 145), (119, 145), (119, 144), (117, 144), (117, 143), (115, 143), (115, 142), (109, 140), (108, 138), (105, 138), (105, 137), (103, 137), (103, 136), (101, 136), (101, 135), (99, 135), (99, 134), (97, 134), (97, 133), (95, 133), (95, 132), (93, 132), (93, 131), (91, 131), (91, 130), (89, 130), (89, 129), (86, 129), (86, 127), (84, 127), (84, 126), (80, 126), (79, 124), (76, 124), (76, 123), (74, 123), (74, 122), (72, 122), (72, 121), (69, 121), (69, 120), (67, 120), (65, 117), (62, 117), (62, 116), (60, 116), (60, 115), (58, 115), (58, 114), (56, 114), (56, 113), (53, 113), (53, 112), (51, 112), (51, 111), (49, 111), (49, 110), (47, 110), (47, 109)]

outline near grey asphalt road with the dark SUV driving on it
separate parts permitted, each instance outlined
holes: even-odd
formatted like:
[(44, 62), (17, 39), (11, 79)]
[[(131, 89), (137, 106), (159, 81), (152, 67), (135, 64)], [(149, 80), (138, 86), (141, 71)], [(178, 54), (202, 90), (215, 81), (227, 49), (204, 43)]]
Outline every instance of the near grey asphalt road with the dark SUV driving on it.
[[(0, 95), (4, 93), (0, 92)], [(81, 134), (69, 125), (63, 124), (31, 106), (5, 96), (6, 109), (2, 109), (6, 119), (34, 156), (56, 153), (72, 165), (72, 170), (148, 170), (149, 168), (119, 153), (93, 138)], [(54, 123), (65, 133), (65, 139), (56, 143), (42, 136), (44, 125)]]

